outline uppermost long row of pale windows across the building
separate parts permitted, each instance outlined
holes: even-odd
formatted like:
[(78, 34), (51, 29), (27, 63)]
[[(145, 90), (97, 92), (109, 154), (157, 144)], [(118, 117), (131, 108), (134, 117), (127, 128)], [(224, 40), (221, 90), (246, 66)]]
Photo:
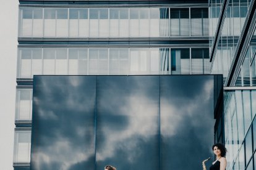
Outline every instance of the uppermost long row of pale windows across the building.
[(20, 7), (21, 38), (169, 36), (208, 36), (208, 8)]

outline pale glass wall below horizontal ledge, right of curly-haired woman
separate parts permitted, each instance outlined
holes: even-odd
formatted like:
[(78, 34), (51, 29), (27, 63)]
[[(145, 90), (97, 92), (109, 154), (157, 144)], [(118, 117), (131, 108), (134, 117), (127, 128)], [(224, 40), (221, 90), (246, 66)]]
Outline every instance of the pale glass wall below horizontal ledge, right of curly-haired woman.
[[(256, 148), (256, 91), (224, 92), (225, 144), (227, 169), (251, 167)], [(254, 134), (254, 135), (253, 135)], [(252, 148), (254, 144), (254, 148)], [(248, 169), (248, 168), (247, 168)]]

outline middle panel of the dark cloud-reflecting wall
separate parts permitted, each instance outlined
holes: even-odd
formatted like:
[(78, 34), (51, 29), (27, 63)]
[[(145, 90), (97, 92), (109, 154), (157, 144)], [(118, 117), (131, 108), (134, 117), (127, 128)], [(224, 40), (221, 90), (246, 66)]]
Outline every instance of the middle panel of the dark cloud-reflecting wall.
[(96, 169), (159, 168), (159, 77), (97, 79)]

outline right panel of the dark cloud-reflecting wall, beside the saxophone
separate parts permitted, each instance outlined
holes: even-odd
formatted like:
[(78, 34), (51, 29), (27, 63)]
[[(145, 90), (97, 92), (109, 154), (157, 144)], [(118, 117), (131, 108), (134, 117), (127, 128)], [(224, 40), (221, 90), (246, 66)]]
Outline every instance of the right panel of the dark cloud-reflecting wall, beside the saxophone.
[(161, 77), (161, 167), (202, 169), (212, 156), (213, 76)]

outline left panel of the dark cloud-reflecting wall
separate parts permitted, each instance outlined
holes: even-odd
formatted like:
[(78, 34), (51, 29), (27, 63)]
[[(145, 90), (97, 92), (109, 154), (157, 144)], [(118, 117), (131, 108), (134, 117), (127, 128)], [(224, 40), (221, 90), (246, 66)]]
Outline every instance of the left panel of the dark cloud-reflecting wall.
[(31, 169), (94, 166), (94, 112), (95, 76), (35, 76)]

